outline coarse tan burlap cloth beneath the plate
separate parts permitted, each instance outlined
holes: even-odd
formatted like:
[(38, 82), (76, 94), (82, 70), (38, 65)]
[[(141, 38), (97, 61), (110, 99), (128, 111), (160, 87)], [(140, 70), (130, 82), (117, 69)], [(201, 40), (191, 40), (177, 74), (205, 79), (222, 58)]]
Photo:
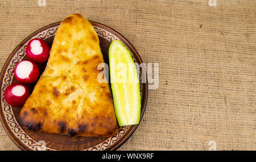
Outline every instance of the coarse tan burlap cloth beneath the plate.
[[(119, 150), (255, 150), (255, 3), (1, 1), (0, 66), (32, 32), (80, 13), (159, 64), (159, 87)], [(2, 126), (0, 149), (19, 150)]]

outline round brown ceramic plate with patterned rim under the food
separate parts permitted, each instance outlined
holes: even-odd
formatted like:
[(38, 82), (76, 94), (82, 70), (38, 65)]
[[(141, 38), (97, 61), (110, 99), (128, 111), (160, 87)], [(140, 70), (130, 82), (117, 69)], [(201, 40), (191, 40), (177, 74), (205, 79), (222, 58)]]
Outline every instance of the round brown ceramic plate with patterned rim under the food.
[[(100, 47), (106, 64), (109, 64), (108, 51), (111, 41), (118, 39), (126, 45), (130, 50), (131, 55), (135, 63), (141, 64), (142, 59), (139, 56), (136, 49), (127, 41), (121, 34), (114, 31), (112, 28), (103, 24), (91, 22), (94, 30), (98, 34), (100, 39)], [(43, 132), (34, 132), (27, 130), (27, 128), (20, 126), (18, 118), (21, 107), (12, 107), (6, 103), (4, 98), (4, 92), (8, 85), (17, 82), (14, 78), (14, 67), (21, 60), (27, 60), (26, 46), (28, 41), (34, 38), (40, 38), (47, 41), (49, 45), (52, 44), (53, 38), (56, 34), (57, 28), (60, 22), (50, 24), (34, 32), (26, 39), (24, 39), (18, 47), (14, 49), (5, 65), (3, 66), (0, 78), (1, 84), (1, 122), (7, 134), (13, 140), (13, 142), (23, 150), (114, 150), (123, 144), (133, 134), (138, 125), (119, 127), (117, 134), (110, 136), (109, 138), (97, 138), (97, 137), (75, 137), (71, 138), (67, 135), (48, 134)], [(38, 64), (40, 73), (44, 71), (46, 63)], [(146, 69), (140, 68), (139, 80), (141, 88), (141, 119), (146, 108), (147, 94), (148, 94), (148, 82), (142, 83), (142, 78), (145, 80)], [(144, 81), (145, 82), (145, 81)], [(32, 92), (35, 84), (28, 85)], [(45, 146), (44, 146), (45, 143)], [(43, 146), (42, 146), (43, 144)]]

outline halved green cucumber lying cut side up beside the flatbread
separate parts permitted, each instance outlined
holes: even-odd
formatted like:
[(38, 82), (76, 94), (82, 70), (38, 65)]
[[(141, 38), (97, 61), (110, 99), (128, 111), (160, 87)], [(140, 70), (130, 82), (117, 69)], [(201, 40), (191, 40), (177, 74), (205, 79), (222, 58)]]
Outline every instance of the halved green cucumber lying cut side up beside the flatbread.
[(129, 50), (119, 40), (109, 47), (110, 82), (119, 126), (139, 123), (141, 93), (137, 70)]

